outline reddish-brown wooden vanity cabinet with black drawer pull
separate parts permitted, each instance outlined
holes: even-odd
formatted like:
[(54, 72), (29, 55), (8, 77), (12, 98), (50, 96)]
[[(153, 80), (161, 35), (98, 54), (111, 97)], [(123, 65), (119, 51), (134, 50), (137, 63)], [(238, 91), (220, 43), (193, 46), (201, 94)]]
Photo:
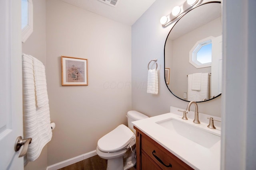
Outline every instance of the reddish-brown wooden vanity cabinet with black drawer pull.
[(137, 170), (193, 170), (185, 162), (136, 129)]

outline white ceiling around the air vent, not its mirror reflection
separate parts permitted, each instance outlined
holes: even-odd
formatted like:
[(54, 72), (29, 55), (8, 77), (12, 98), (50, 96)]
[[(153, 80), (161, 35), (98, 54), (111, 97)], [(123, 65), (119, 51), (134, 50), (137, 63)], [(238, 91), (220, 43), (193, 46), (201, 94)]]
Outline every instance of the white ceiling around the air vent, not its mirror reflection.
[(115, 7), (99, 0), (62, 0), (114, 21), (133, 25), (156, 0), (118, 0)]

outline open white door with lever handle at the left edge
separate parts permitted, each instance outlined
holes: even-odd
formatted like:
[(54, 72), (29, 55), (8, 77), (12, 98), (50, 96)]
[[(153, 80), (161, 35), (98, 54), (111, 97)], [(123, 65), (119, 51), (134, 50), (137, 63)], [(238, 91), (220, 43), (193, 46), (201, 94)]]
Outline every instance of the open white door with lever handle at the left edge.
[(0, 0), (0, 170), (23, 170), (21, 0)]

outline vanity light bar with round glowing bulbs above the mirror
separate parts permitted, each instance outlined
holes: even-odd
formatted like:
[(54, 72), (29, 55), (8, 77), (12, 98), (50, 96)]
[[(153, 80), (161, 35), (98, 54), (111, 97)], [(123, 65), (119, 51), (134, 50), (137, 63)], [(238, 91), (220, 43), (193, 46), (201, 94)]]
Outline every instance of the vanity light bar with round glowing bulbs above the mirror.
[(172, 9), (171, 14), (162, 16), (160, 23), (163, 27), (166, 27), (182, 17), (188, 10), (195, 8), (202, 0), (186, 0), (182, 5), (175, 6)]

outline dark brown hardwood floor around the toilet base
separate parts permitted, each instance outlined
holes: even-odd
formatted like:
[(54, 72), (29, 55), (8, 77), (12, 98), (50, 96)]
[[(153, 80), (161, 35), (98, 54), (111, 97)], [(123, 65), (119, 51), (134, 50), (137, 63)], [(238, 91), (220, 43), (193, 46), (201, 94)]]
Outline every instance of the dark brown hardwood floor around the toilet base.
[[(100, 158), (98, 155), (82, 160), (75, 164), (60, 168), (59, 170), (106, 170), (107, 160)], [(136, 165), (128, 170), (136, 170)]]

